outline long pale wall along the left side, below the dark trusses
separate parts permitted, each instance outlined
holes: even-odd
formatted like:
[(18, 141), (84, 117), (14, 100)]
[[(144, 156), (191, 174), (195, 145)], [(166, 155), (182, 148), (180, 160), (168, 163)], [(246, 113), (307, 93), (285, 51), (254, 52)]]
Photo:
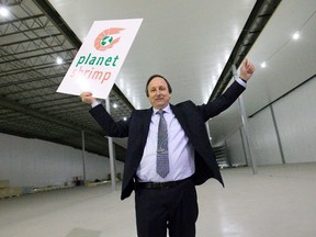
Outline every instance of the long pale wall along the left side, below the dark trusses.
[[(117, 172), (123, 163), (117, 161)], [(87, 180), (105, 179), (109, 159), (86, 153)], [(12, 187), (63, 185), (83, 176), (82, 151), (38, 139), (0, 134), (0, 180)]]

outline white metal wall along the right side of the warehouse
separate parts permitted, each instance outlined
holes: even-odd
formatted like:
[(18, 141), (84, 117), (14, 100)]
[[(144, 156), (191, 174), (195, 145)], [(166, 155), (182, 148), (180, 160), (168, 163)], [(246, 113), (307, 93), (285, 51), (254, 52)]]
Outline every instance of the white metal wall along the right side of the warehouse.
[[(257, 165), (282, 163), (282, 153), (285, 163), (316, 161), (315, 91), (314, 77), (272, 103), (271, 108), (249, 119), (251, 147)], [(240, 163), (240, 132), (236, 131), (226, 139), (230, 162)], [(245, 154), (244, 160), (246, 162)]]

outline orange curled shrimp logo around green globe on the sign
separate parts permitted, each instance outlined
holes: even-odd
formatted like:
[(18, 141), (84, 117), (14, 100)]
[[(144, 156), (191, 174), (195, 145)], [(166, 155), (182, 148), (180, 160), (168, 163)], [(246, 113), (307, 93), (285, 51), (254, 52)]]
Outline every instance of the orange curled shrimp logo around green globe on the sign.
[(115, 34), (120, 34), (121, 31), (124, 31), (125, 29), (120, 27), (110, 27), (101, 32), (95, 41), (94, 41), (94, 48), (97, 50), (106, 50), (109, 48), (112, 48), (115, 44), (120, 42), (121, 37), (115, 37)]

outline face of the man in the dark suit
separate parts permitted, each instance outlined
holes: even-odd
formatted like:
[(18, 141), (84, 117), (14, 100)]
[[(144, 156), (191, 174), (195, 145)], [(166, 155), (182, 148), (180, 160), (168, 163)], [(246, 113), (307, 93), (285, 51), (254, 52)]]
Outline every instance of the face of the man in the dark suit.
[(155, 109), (160, 110), (168, 105), (170, 93), (168, 90), (168, 84), (162, 78), (155, 77), (149, 82), (147, 90), (150, 104)]

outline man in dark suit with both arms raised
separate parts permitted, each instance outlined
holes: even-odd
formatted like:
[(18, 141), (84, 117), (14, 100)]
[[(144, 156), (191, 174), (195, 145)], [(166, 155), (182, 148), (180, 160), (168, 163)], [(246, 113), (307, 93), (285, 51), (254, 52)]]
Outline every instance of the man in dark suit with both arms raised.
[(246, 59), (239, 78), (221, 97), (202, 105), (192, 101), (170, 104), (171, 86), (154, 75), (146, 84), (153, 108), (133, 111), (127, 121), (115, 122), (92, 93), (81, 93), (108, 136), (128, 137), (121, 199), (135, 190), (139, 237), (166, 237), (167, 229), (172, 237), (195, 236), (195, 185), (210, 178), (224, 185), (205, 122), (236, 101), (253, 71)]

